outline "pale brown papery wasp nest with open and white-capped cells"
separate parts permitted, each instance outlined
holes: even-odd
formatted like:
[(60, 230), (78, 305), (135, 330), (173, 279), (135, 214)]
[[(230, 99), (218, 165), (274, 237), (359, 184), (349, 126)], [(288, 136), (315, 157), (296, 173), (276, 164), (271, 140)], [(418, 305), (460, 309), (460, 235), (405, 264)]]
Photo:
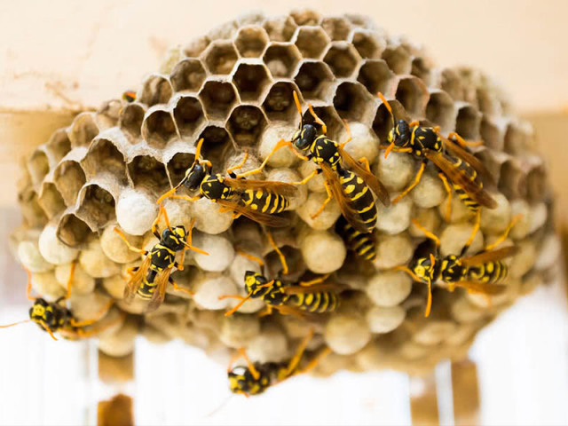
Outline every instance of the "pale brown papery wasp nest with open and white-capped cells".
[[(280, 138), (291, 138), (297, 129), (293, 91), (312, 103), (331, 138), (343, 141), (342, 120), (351, 124), (347, 151), (367, 157), (391, 196), (408, 185), (418, 162), (404, 153), (387, 160), (381, 154), (379, 141), (386, 141), (391, 122), (378, 91), (392, 99), (398, 118), (482, 139), (485, 145), (472, 151), (497, 182), (490, 192), (498, 208), (482, 209), (472, 248), (483, 248), (511, 217), (523, 215), (509, 234), (519, 251), (510, 259), (507, 291), (484, 297), (437, 287), (430, 317), (424, 318), (426, 286), (393, 270), (406, 265), (424, 239), (411, 219), (440, 237), (443, 255), (459, 253), (472, 226), (457, 197), (446, 222), (444, 186), (427, 168), (403, 201), (379, 206), (373, 262), (349, 253), (335, 233), (340, 216), (335, 201), (312, 219), (325, 198), (320, 177), (292, 200), (294, 211), (287, 214), (294, 225), (274, 231), (274, 239), (287, 256), (292, 279), (306, 271), (332, 273), (330, 280), (350, 288), (341, 293), (337, 312), (307, 319), (259, 317), (264, 304), (251, 300), (225, 317), (237, 301), (218, 296), (244, 295), (244, 272), (260, 271), (241, 253), (264, 257), (272, 277), (279, 263), (256, 224), (233, 221), (206, 199), (165, 203), (173, 225), (188, 226), (196, 218), (193, 245), (210, 254), (188, 252), (185, 271), (173, 273), (194, 296), (169, 287), (165, 302), (150, 314), (138, 298), (124, 303), (125, 270), (140, 256), (126, 249), (113, 228), (119, 226), (138, 247), (152, 247), (156, 200), (191, 166), (198, 139), (205, 139), (202, 155), (216, 172), (240, 162), (245, 150), (251, 154), (246, 168), (256, 167)], [(295, 181), (313, 167), (283, 149), (264, 175)], [(320, 362), (320, 374), (430, 368), (439, 359), (462, 357), (482, 327), (549, 280), (558, 254), (546, 167), (531, 126), (511, 114), (501, 91), (482, 73), (435, 67), (413, 43), (386, 36), (355, 15), (247, 16), (172, 49), (159, 72), (138, 87), (136, 101), (109, 100), (97, 112), (78, 114), (36, 149), (25, 173), (20, 183), (25, 225), (15, 234), (20, 260), (34, 272), (36, 290), (51, 297), (64, 294), (67, 276), (59, 270), (78, 262), (74, 309), (99, 306), (101, 298), (115, 300), (114, 311), (128, 315), (122, 327), (100, 338), (101, 350), (111, 355), (131, 351), (138, 332), (155, 342), (183, 339), (218, 359), (244, 347), (253, 360), (282, 361), (313, 328), (309, 349), (327, 345), (332, 351)]]

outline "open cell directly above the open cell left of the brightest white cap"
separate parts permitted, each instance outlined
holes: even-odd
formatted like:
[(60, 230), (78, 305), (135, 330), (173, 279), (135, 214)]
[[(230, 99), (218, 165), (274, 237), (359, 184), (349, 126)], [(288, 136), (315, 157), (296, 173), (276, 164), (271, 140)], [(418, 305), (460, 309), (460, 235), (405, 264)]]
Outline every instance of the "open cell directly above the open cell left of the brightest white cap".
[(114, 144), (105, 138), (95, 140), (81, 161), (88, 180), (97, 173), (109, 173), (119, 185), (126, 185), (124, 156)]

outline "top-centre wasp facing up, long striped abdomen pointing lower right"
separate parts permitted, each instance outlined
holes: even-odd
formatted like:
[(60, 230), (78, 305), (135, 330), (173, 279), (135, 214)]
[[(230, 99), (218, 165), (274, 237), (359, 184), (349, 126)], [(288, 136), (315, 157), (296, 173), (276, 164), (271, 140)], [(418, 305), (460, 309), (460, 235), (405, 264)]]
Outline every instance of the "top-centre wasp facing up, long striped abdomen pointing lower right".
[[(264, 159), (260, 167), (242, 173), (238, 177), (245, 177), (260, 172), (264, 169), (272, 154), (280, 148), (288, 146), (302, 160), (312, 160), (318, 165), (316, 170), (301, 182), (296, 182), (295, 185), (304, 185), (319, 173), (324, 174), (327, 199), (323, 201), (319, 210), (312, 215), (312, 218), (318, 217), (325, 209), (327, 203), (335, 198), (343, 213), (343, 217), (359, 233), (371, 233), (375, 228), (378, 215), (373, 193), (377, 195), (385, 206), (389, 206), (390, 198), (387, 189), (370, 172), (366, 158), (361, 158), (358, 162), (343, 149), (351, 141), (351, 132), (347, 122), (345, 122), (345, 125), (349, 137), (343, 143), (338, 144), (335, 140), (326, 136), (327, 126), (315, 114), (312, 105), (308, 105), (308, 109), (315, 122), (319, 124), (322, 134), (319, 135), (319, 131), (314, 124), (304, 122), (302, 106), (300, 106), (300, 100), (296, 91), (294, 92), (294, 101), (296, 109), (300, 114), (300, 127), (296, 130), (292, 140), (280, 140), (273, 147), (272, 152)], [(351, 170), (343, 168), (343, 162), (346, 162)]]

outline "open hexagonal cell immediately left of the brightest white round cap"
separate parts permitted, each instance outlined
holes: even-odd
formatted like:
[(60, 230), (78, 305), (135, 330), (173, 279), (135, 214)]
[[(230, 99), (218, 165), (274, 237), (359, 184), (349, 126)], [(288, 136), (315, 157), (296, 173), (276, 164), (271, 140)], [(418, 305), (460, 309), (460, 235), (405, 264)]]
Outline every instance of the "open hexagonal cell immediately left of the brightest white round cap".
[(79, 192), (77, 215), (89, 217), (91, 224), (100, 229), (114, 219), (114, 197), (105, 188), (92, 184), (85, 185)]

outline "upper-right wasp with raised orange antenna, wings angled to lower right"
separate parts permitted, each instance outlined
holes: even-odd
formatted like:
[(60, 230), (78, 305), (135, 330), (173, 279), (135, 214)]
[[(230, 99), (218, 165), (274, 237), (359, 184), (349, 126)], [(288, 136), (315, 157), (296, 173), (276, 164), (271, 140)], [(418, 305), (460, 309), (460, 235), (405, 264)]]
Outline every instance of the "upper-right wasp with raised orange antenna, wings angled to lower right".
[(384, 157), (387, 158), (390, 151), (394, 150), (395, 152), (412, 154), (422, 161), (413, 182), (402, 193), (398, 194), (392, 202), (397, 203), (414, 186), (418, 185), (426, 163), (429, 161), (433, 162), (440, 170), (438, 176), (444, 183), (448, 193), (447, 216), (449, 217), (450, 214), (452, 187), (466, 207), (476, 214), (476, 226), (471, 237), (471, 240), (473, 240), (475, 233), (479, 229), (481, 207), (487, 209), (495, 209), (497, 207), (497, 202), (485, 191), (483, 182), (479, 178), (479, 174), (490, 177), (487, 170), (485, 170), (485, 166), (462, 147), (478, 145), (478, 142), (466, 142), (455, 132), (451, 132), (448, 138), (444, 138), (440, 135), (439, 127), (431, 128), (421, 126), (420, 122), (396, 120), (389, 101), (380, 92), (378, 96), (389, 111), (390, 119), (392, 120), (392, 129), (388, 136), (389, 146)]

